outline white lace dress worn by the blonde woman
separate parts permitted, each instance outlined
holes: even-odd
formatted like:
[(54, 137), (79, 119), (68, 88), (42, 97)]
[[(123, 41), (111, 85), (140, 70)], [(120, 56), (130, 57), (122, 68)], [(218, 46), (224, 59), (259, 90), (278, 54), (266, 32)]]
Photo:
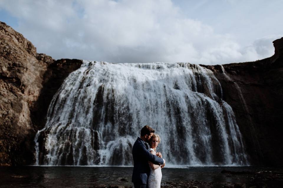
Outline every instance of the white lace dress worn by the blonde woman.
[[(153, 151), (153, 155), (156, 155), (155, 151), (152, 148), (149, 148), (148, 151)], [(152, 169), (152, 167), (149, 164), (150, 168), (150, 173), (149, 177), (147, 178), (148, 181), (148, 188), (160, 188), (161, 184), (161, 178), (162, 178), (162, 173), (161, 173), (161, 168), (157, 169)]]

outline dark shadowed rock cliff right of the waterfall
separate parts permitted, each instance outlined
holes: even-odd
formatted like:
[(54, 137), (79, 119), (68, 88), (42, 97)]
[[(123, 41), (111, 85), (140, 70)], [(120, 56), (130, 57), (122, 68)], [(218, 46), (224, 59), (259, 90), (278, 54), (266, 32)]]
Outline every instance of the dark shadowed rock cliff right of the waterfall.
[(233, 108), (252, 164), (283, 163), (283, 37), (273, 43), (270, 58), (204, 66), (221, 83), (223, 100)]

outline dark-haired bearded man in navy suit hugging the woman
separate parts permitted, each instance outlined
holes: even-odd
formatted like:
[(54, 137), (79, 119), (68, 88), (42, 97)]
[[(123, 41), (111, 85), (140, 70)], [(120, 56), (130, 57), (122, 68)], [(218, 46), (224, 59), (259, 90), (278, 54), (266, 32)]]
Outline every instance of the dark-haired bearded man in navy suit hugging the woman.
[[(135, 188), (147, 188), (147, 177), (149, 176), (148, 161), (165, 165), (165, 160), (156, 155), (152, 155), (147, 149), (150, 138), (154, 130), (149, 126), (144, 126), (141, 129), (141, 136), (136, 139), (134, 143), (132, 154), (134, 159), (134, 170), (132, 175), (132, 182)], [(147, 142), (147, 143), (146, 143)], [(161, 155), (160, 155), (161, 156)]]

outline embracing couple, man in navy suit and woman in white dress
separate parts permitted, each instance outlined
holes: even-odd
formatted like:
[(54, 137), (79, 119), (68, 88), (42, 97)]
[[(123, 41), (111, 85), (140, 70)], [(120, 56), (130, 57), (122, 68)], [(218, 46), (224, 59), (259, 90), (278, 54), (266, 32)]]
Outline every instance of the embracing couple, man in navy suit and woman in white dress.
[(160, 152), (156, 152), (159, 142), (159, 135), (154, 134), (151, 127), (146, 125), (141, 129), (141, 136), (136, 139), (132, 150), (132, 182), (135, 188), (160, 188), (161, 169), (165, 166), (165, 160)]

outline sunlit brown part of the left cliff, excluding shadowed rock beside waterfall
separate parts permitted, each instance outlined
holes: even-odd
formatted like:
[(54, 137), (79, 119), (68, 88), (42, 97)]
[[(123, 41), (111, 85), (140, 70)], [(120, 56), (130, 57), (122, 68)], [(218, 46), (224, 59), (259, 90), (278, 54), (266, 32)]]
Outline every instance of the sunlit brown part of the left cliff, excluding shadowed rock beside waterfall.
[(20, 33), (0, 23), (0, 164), (27, 163), (34, 134), (29, 108), (42, 89), (51, 57), (37, 60), (36, 48)]

